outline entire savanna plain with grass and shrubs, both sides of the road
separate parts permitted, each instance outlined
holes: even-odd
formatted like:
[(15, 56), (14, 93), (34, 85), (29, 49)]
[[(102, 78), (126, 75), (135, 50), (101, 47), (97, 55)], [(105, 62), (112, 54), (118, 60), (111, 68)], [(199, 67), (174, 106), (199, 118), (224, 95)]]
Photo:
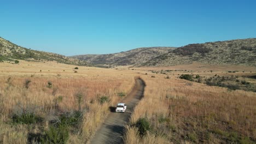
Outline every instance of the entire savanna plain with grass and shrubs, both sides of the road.
[(125, 126), (125, 143), (256, 142), (255, 67), (20, 61), (0, 68), (0, 143), (89, 143), (136, 76), (146, 88)]

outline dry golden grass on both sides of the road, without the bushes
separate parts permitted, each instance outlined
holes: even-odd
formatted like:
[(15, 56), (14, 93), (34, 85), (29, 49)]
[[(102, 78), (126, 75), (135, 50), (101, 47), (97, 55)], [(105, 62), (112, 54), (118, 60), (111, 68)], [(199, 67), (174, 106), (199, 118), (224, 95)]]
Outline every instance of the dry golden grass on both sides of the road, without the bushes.
[[(74, 73), (75, 65), (25, 61), (20, 64), (0, 63), (0, 67), (0, 143), (27, 143), (30, 133), (42, 133), (48, 129), (48, 118), (56, 111), (78, 110), (75, 97), (78, 92), (84, 95), (81, 103), (84, 116), (80, 129), (70, 133), (68, 143), (88, 142), (104, 121), (109, 106), (114, 106), (121, 99), (117, 93), (129, 93), (135, 76), (141, 76), (147, 86), (145, 97), (131, 116), (131, 125), (126, 127), (126, 143), (256, 141), (255, 93), (230, 91), (227, 88), (177, 79), (181, 74), (190, 73), (206, 77), (216, 74), (252, 75), (255, 73), (248, 70), (255, 71), (254, 67), (236, 67), (234, 69), (239, 72), (233, 74), (226, 72), (231, 67), (219, 69), (216, 66), (211, 73), (211, 67), (200, 69), (193, 66), (193, 71), (188, 67), (189, 72), (168, 72), (170, 79), (160, 74), (162, 68), (154, 69), (159, 74), (153, 74), (148, 68), (115, 70), (90, 67), (79, 67), (78, 73)], [(246, 72), (243, 73), (243, 70)], [(31, 80), (28, 88), (24, 86), (26, 80)], [(47, 87), (49, 81), (52, 88)], [(246, 81), (255, 83), (253, 79)], [(63, 100), (56, 107), (54, 99), (60, 95)], [(99, 98), (102, 96), (107, 96), (109, 102), (101, 104)], [(32, 127), (9, 123), (11, 115), (22, 108), (44, 117), (43, 123)], [(132, 124), (143, 117), (149, 119), (152, 130), (146, 136), (139, 136), (137, 128)]]

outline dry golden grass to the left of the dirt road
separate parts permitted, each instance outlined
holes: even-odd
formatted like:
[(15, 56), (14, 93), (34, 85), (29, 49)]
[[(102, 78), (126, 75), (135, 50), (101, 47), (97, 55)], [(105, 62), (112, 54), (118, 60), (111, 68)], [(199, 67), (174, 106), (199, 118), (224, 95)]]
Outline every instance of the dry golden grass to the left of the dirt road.
[[(79, 109), (75, 94), (83, 94), (81, 107), (84, 111), (82, 127), (78, 133), (69, 136), (68, 143), (85, 143), (95, 133), (109, 113), (109, 106), (120, 101), (119, 92), (129, 93), (134, 74), (112, 69), (79, 67), (74, 73), (74, 65), (57, 63), (21, 64), (1, 63), (0, 99), (1, 101), (1, 137), (3, 143), (27, 142), (28, 133), (35, 128), (22, 125), (8, 125), (13, 113), (28, 110), (44, 118), (39, 132), (48, 128), (48, 119), (56, 112), (68, 112)], [(48, 71), (48, 69), (50, 71)], [(42, 72), (40, 71), (42, 70)], [(65, 71), (63, 71), (65, 70)], [(44, 72), (45, 71), (45, 72)], [(28, 88), (25, 81), (30, 80)], [(48, 87), (48, 82), (52, 86)], [(54, 99), (63, 99), (55, 104)], [(108, 97), (108, 103), (100, 103), (100, 97)], [(20, 136), (22, 135), (22, 136)], [(13, 139), (13, 136), (17, 136)]]

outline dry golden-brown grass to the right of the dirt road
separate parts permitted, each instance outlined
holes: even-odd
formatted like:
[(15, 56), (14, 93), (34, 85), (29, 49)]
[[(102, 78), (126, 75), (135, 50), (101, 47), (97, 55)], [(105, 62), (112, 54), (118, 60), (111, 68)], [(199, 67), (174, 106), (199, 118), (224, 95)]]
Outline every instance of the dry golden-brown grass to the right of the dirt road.
[[(175, 76), (142, 78), (147, 85), (145, 97), (136, 106), (131, 124), (148, 118), (152, 125), (149, 135), (156, 143), (256, 141), (255, 93), (195, 82), (191, 85)], [(149, 135), (139, 137), (137, 133), (127, 127), (125, 140), (144, 143), (148, 139)]]

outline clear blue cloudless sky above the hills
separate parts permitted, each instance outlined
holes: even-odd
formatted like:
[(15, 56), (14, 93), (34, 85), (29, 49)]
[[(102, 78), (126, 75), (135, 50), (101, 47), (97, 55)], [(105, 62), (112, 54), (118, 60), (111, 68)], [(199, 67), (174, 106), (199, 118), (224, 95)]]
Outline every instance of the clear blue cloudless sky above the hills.
[(66, 56), (256, 37), (255, 0), (1, 1), (0, 36)]

